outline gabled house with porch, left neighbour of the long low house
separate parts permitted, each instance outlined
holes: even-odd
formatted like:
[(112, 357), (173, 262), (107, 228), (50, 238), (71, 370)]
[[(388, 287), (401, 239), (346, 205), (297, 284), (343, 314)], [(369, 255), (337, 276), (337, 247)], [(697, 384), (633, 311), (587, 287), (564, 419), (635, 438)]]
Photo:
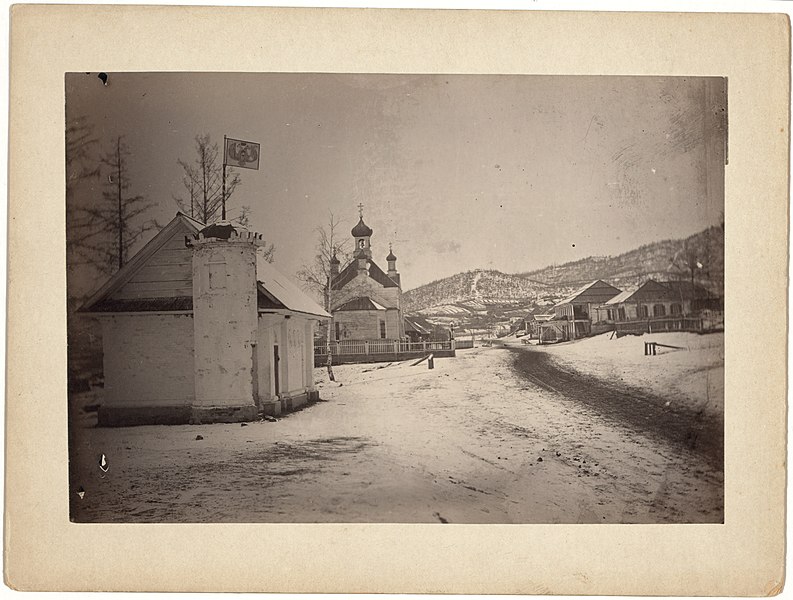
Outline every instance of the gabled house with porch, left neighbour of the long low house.
[(553, 307), (552, 319), (538, 323), (540, 342), (591, 335), (593, 322), (598, 322), (597, 308), (619, 293), (619, 289), (601, 279), (579, 288)]

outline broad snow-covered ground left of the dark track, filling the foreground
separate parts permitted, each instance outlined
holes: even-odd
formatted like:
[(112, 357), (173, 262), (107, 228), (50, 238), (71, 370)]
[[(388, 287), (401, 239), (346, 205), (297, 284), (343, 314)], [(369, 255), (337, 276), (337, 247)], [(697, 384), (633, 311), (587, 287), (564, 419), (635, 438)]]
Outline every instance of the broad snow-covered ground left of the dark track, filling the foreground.
[[(465, 350), (436, 360), (433, 370), (409, 363), (336, 367), (341, 385), (323, 381), (323, 402), (274, 423), (86, 429), (76, 448), (73, 516), (722, 521), (723, 473), (703, 451), (708, 444), (692, 449), (659, 435), (656, 425), (637, 424), (638, 416), (604, 416), (608, 403), (591, 405), (532, 383), (515, 369), (513, 352)], [(636, 403), (637, 415), (645, 407)], [(653, 412), (646, 420), (657, 418)], [(97, 467), (102, 453), (107, 473)]]

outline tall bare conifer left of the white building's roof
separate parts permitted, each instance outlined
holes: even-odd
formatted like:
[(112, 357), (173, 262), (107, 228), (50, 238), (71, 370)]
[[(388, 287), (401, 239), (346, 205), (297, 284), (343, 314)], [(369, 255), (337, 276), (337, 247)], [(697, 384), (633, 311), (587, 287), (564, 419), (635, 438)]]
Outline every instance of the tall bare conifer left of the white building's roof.
[(104, 274), (124, 266), (130, 249), (144, 234), (161, 228), (156, 220), (142, 220), (154, 202), (130, 195), (131, 155), (123, 137), (117, 137), (112, 148), (99, 158), (96, 168), (103, 181), (102, 199), (80, 206), (74, 213), (71, 243), (78, 260)]

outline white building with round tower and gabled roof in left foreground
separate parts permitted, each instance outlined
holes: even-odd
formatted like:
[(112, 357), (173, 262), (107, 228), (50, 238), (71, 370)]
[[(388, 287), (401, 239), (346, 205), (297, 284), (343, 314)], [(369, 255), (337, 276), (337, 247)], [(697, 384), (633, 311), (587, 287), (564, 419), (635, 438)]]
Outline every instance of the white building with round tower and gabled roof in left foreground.
[(102, 324), (100, 425), (247, 421), (317, 398), (314, 328), (330, 315), (262, 244), (177, 213), (86, 302)]

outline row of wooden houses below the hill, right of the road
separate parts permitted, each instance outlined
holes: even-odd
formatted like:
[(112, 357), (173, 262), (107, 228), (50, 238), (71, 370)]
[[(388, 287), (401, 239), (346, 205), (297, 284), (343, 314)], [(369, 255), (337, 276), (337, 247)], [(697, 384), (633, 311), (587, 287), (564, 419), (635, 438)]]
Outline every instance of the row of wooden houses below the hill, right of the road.
[(723, 325), (723, 301), (690, 281), (650, 279), (623, 291), (603, 280), (588, 283), (553, 310), (524, 319), (540, 343), (575, 340), (606, 331), (706, 331)]

